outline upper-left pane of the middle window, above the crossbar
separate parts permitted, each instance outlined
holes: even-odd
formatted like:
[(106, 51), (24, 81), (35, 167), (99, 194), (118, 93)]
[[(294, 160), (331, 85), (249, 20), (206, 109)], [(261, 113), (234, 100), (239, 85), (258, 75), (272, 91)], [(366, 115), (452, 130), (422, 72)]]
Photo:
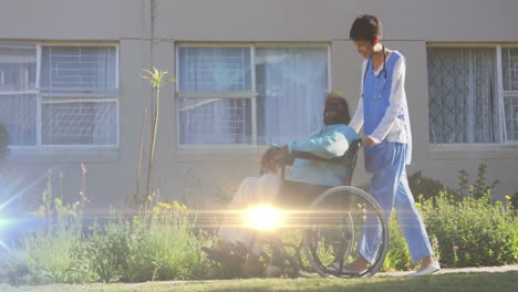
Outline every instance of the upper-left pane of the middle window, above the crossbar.
[(180, 46), (179, 91), (250, 91), (250, 48)]

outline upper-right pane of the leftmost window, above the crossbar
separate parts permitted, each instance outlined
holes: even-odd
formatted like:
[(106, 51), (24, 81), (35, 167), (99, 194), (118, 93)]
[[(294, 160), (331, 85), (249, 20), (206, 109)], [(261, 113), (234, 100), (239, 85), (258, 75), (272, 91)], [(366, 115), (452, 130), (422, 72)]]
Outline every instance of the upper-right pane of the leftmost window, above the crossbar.
[(116, 88), (115, 46), (43, 46), (43, 88)]

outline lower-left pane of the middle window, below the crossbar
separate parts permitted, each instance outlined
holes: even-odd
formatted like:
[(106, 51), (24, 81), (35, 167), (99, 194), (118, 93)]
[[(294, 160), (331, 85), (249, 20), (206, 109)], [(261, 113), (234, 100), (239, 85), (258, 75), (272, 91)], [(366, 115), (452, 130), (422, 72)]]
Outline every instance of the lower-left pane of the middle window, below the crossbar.
[(180, 144), (251, 144), (246, 98), (179, 98)]

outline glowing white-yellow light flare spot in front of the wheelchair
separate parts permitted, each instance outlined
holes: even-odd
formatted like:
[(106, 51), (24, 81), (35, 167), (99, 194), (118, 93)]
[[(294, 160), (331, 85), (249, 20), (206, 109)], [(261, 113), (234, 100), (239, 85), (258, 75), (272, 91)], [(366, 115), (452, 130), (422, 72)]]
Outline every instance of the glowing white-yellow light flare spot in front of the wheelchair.
[(276, 229), (282, 226), (282, 215), (270, 206), (259, 206), (245, 211), (245, 225), (252, 229)]

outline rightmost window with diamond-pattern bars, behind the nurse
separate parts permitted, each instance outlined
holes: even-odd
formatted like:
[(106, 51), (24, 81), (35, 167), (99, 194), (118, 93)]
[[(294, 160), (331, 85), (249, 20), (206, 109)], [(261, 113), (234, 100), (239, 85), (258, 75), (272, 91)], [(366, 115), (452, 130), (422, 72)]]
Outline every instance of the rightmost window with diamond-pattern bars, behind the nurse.
[(429, 139), (434, 144), (518, 140), (518, 50), (427, 49)]

